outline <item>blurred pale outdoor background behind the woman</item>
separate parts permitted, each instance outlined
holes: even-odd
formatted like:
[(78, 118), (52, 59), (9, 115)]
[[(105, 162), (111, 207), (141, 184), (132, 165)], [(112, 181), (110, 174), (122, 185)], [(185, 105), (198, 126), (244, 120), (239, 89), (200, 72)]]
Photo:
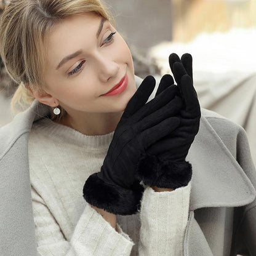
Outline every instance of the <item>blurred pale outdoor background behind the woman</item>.
[[(256, 0), (103, 1), (130, 47), (138, 76), (153, 74), (159, 81), (170, 73), (169, 54), (193, 56), (201, 106), (246, 129), (256, 163)], [(1, 9), (5, 4), (0, 1)], [(12, 119), (15, 88), (1, 63), (0, 126)]]

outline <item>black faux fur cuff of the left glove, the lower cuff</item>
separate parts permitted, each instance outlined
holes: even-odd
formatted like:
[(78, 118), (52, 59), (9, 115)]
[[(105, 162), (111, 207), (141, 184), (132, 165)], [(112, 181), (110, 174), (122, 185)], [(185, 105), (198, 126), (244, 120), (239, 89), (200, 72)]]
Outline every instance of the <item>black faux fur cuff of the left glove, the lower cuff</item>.
[(143, 186), (136, 180), (130, 189), (103, 182), (97, 173), (87, 178), (84, 184), (84, 199), (89, 204), (107, 212), (119, 215), (131, 215), (140, 210)]

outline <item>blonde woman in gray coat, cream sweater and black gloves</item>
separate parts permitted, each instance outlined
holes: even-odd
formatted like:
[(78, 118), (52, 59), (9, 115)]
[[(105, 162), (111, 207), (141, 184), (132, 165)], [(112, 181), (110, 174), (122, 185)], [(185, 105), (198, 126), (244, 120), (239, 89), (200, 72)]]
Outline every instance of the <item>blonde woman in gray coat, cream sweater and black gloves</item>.
[(246, 135), (209, 111), (199, 129), (190, 55), (146, 103), (100, 1), (10, 1), (0, 38), (13, 103), (33, 101), (0, 130), (2, 255), (254, 252)]

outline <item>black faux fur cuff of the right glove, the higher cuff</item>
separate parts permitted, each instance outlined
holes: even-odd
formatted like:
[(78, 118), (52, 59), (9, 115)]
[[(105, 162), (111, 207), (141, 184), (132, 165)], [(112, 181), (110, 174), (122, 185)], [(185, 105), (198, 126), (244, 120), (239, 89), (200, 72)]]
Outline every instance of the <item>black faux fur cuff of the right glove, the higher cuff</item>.
[(175, 189), (188, 185), (192, 177), (192, 167), (187, 161), (163, 161), (156, 156), (142, 154), (136, 176), (145, 185)]

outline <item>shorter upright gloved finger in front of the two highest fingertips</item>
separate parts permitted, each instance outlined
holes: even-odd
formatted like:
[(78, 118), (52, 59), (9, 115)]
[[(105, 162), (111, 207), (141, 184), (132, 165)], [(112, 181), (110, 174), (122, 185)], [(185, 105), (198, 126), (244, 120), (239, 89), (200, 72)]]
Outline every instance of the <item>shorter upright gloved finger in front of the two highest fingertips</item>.
[(188, 74), (182, 76), (181, 87), (183, 92), (183, 98), (186, 105), (186, 113), (190, 114), (191, 118), (198, 116), (200, 111), (200, 105), (196, 91), (194, 90), (193, 82)]

